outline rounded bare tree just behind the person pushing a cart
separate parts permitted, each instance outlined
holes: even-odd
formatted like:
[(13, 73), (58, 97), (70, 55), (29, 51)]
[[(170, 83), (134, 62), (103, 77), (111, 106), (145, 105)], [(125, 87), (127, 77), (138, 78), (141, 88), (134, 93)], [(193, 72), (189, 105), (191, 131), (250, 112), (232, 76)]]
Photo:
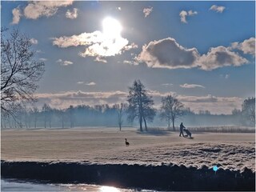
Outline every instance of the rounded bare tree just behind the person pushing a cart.
[(174, 121), (183, 114), (184, 106), (177, 98), (174, 98), (171, 95), (162, 98), (160, 118), (165, 119), (168, 122), (168, 130), (170, 130), (170, 121), (172, 121), (173, 129), (175, 130)]

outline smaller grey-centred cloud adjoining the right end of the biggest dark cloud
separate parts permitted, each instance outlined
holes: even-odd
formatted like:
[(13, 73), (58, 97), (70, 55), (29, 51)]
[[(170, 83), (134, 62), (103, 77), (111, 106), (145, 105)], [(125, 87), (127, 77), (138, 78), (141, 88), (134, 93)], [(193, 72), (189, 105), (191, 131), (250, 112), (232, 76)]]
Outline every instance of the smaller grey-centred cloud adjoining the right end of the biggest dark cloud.
[(199, 63), (202, 70), (214, 70), (223, 66), (242, 66), (248, 63), (248, 60), (225, 46), (218, 46), (210, 48), (207, 54), (203, 54)]

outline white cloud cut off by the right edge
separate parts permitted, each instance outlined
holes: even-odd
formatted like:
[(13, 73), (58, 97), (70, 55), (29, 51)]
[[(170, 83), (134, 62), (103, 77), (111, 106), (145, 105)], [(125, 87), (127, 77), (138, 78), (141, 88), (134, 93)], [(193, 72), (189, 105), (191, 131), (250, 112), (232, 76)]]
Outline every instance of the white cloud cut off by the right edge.
[(255, 38), (249, 38), (243, 42), (233, 42), (230, 49), (242, 50), (244, 54), (252, 54), (255, 57)]

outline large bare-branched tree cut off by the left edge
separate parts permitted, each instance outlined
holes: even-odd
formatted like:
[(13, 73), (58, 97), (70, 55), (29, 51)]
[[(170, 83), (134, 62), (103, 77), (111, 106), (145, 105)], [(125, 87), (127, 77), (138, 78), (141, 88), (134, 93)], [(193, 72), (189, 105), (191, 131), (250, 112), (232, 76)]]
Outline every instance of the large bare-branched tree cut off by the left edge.
[(35, 59), (30, 39), (18, 30), (1, 34), (1, 110), (13, 115), (22, 102), (34, 102), (44, 62)]

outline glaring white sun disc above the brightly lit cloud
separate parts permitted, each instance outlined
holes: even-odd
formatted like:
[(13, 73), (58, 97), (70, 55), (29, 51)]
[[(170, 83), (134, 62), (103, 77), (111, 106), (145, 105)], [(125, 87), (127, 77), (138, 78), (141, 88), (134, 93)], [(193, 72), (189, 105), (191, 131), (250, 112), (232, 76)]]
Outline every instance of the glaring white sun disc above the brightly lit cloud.
[(102, 26), (103, 34), (106, 35), (106, 38), (121, 37), (122, 26), (118, 20), (114, 18), (104, 18)]

